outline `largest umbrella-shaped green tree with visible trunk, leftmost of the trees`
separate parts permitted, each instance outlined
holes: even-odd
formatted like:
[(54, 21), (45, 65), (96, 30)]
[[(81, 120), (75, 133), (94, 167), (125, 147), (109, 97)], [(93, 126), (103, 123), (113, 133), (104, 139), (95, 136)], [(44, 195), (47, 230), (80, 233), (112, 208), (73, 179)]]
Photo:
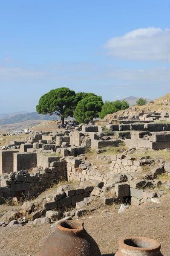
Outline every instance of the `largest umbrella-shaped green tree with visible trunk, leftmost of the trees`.
[(61, 117), (62, 125), (64, 118), (73, 115), (73, 111), (77, 105), (77, 97), (75, 91), (69, 88), (61, 87), (50, 90), (49, 93), (40, 97), (39, 103), (36, 106), (37, 113), (58, 115)]

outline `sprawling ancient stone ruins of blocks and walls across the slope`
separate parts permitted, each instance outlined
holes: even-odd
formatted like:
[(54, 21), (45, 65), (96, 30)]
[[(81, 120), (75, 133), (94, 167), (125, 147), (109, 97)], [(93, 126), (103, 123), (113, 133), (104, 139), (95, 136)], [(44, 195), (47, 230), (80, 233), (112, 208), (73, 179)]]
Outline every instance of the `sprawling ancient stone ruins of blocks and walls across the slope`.
[[(164, 191), (154, 189), (162, 184), (170, 189), (169, 181), (158, 180), (158, 175), (170, 176), (170, 161), (131, 155), (136, 148), (170, 148), (168, 123), (107, 124), (106, 127), (90, 124), (70, 128), (60, 133), (35, 134), (24, 142), (11, 141), (0, 151), (1, 203), (23, 195), (28, 200), (37, 197), (60, 180), (78, 182), (74, 187), (60, 186), (47, 195), (41, 209), (36, 199), (30, 205), (27, 202), (30, 207), (23, 206), (35, 222), (37, 219), (54, 221), (63, 216), (81, 217), (96, 198), (104, 205), (120, 202), (140, 205), (158, 201)], [(100, 154), (122, 142), (129, 149), (121, 154)], [(103, 158), (107, 162), (101, 169), (86, 160), (84, 154), (90, 148), (96, 151), (98, 160)], [(150, 172), (143, 173), (144, 167)], [(72, 208), (75, 208), (72, 212), (64, 213)], [(54, 217), (55, 214), (59, 217)]]

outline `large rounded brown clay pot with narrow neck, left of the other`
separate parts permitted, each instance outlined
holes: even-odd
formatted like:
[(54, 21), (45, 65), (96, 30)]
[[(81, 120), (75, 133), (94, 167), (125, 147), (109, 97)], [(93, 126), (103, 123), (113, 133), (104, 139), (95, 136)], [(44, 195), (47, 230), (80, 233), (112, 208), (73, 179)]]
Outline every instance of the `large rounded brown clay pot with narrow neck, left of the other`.
[(81, 221), (60, 221), (45, 241), (40, 256), (101, 256)]

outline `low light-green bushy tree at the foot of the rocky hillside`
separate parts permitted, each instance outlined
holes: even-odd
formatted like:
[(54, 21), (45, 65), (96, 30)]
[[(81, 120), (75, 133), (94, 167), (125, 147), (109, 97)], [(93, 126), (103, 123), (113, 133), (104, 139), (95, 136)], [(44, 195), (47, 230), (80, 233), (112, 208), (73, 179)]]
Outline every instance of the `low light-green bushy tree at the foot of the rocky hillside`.
[(108, 114), (115, 113), (119, 110), (124, 110), (126, 108), (129, 108), (129, 103), (125, 100), (116, 100), (116, 101), (105, 101), (104, 105), (102, 106), (101, 113), (99, 115), (100, 118), (104, 118), (104, 116)]

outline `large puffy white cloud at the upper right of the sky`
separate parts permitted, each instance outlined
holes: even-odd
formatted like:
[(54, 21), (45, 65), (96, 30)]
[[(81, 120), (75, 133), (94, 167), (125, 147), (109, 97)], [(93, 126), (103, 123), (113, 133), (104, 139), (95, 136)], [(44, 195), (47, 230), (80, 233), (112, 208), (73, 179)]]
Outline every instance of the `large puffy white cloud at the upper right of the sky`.
[(114, 58), (170, 62), (170, 29), (149, 27), (113, 37), (104, 47)]

